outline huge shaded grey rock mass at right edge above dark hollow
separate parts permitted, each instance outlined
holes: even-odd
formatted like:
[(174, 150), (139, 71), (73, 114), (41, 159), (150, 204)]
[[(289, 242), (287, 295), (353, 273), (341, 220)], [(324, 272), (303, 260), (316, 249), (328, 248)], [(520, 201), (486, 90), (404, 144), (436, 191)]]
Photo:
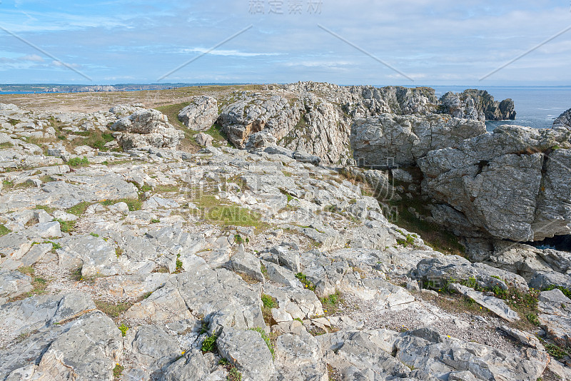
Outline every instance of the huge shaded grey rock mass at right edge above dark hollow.
[(423, 193), (443, 203), (442, 225), (464, 236), (527, 242), (570, 232), (569, 132), (500, 126), (457, 148), (430, 151), (418, 164)]

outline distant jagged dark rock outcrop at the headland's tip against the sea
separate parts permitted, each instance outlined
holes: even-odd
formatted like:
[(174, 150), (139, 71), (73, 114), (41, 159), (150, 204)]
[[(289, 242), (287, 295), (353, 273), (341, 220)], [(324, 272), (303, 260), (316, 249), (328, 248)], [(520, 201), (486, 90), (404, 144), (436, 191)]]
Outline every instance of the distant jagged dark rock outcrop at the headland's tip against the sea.
[(514, 103), (511, 99), (501, 102), (485, 90), (469, 89), (463, 93), (445, 93), (440, 98), (440, 111), (456, 118), (478, 121), (515, 120)]

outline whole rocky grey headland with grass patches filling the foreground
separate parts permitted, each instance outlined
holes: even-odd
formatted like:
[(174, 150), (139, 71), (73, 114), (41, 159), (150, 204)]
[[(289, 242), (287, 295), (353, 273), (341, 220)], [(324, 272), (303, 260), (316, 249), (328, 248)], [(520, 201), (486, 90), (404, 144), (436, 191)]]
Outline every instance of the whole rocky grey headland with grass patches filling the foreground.
[(0, 104), (0, 380), (571, 380), (569, 118), (463, 94)]

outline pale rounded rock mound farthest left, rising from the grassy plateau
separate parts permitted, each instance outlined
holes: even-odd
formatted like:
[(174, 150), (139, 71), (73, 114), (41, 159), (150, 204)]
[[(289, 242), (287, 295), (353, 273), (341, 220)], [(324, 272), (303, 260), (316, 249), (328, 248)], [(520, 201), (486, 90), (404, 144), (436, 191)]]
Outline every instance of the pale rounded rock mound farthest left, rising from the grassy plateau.
[(132, 148), (175, 148), (184, 133), (168, 123), (168, 118), (153, 109), (138, 110), (119, 119), (113, 126), (113, 136), (124, 150)]

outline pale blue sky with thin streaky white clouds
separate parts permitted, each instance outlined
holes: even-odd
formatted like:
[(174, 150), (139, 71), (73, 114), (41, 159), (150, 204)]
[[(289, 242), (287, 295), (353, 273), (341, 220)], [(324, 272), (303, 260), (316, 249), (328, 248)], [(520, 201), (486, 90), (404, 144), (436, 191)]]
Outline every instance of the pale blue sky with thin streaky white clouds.
[(1, 0), (0, 28), (0, 83), (571, 85), (570, 0)]

